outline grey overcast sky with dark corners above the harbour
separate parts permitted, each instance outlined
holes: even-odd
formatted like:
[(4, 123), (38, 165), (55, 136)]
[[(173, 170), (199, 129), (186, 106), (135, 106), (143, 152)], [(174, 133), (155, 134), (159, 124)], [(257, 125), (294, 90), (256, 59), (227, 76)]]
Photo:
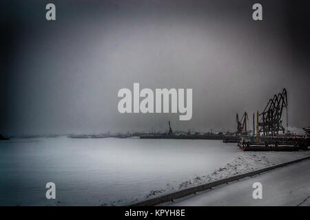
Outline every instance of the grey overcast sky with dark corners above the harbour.
[[(253, 21), (257, 2), (6, 1), (0, 133), (165, 131), (168, 120), (185, 131), (235, 131), (236, 113), (247, 111), (251, 126), (283, 88), (289, 125), (308, 126), (307, 7), (259, 1), (263, 21)], [(118, 90), (133, 83), (192, 88), (192, 120), (119, 113)]]

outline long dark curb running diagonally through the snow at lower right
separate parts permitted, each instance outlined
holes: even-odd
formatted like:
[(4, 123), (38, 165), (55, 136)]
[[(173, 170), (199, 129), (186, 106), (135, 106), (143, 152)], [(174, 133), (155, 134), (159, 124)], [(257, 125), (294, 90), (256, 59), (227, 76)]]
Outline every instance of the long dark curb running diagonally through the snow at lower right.
[(161, 197), (156, 197), (156, 198), (153, 198), (153, 199), (147, 199), (145, 201), (140, 201), (138, 203), (132, 204), (131, 206), (156, 206), (158, 204), (165, 203), (167, 201), (172, 201), (173, 199), (179, 199), (181, 197), (185, 197), (187, 195), (192, 195), (192, 194), (194, 194), (196, 192), (207, 190), (207, 189), (210, 189), (210, 188), (215, 187), (215, 186), (219, 186), (219, 185), (222, 185), (222, 184), (227, 184), (229, 181), (236, 181), (238, 179), (243, 179), (245, 177), (252, 177), (254, 175), (258, 175), (260, 173), (264, 173), (266, 171), (273, 170), (275, 168), (279, 168), (279, 167), (282, 167), (282, 166), (287, 166), (289, 164), (295, 164), (297, 162), (301, 162), (301, 161), (303, 161), (305, 159), (310, 159), (310, 156), (309, 157), (303, 157), (303, 158), (300, 158), (300, 159), (296, 159), (296, 160), (293, 160), (293, 161), (290, 161), (290, 162), (285, 162), (283, 164), (278, 164), (278, 165), (275, 165), (275, 166), (269, 166), (267, 168), (262, 168), (260, 170), (251, 171), (249, 173), (243, 173), (243, 174), (240, 174), (240, 175), (235, 175), (233, 177), (229, 177), (229, 178), (226, 178), (226, 179), (220, 179), (220, 180), (217, 180), (217, 181), (212, 181), (212, 182), (209, 182), (207, 184), (200, 185), (200, 186), (194, 186), (192, 188), (186, 188), (185, 190), (180, 190), (180, 191), (172, 192), (172, 193), (169, 193), (167, 195), (163, 195)]

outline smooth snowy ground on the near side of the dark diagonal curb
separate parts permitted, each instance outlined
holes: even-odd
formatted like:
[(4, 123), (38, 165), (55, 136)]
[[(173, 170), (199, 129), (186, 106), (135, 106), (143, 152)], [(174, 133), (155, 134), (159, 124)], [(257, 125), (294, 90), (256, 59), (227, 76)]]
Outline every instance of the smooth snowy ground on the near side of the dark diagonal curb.
[[(262, 184), (262, 199), (253, 199), (254, 182)], [(310, 206), (310, 159), (161, 206)]]

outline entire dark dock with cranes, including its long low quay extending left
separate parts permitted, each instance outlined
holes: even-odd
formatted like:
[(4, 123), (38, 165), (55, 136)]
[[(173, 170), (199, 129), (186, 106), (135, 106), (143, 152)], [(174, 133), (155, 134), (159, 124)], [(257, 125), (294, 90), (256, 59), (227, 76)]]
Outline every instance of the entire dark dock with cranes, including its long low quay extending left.
[(248, 114), (245, 111), (241, 118), (236, 114), (237, 131), (225, 135), (223, 133), (176, 133), (173, 132), (170, 121), (168, 132), (140, 135), (141, 139), (191, 139), (191, 140), (223, 140), (225, 143), (238, 143), (242, 151), (298, 151), (308, 150), (310, 146), (310, 128), (305, 128), (305, 135), (285, 133), (282, 125), (282, 115), (286, 111), (286, 126), (288, 128), (287, 90), (282, 89), (269, 99), (265, 109), (253, 114), (253, 131), (247, 129)]

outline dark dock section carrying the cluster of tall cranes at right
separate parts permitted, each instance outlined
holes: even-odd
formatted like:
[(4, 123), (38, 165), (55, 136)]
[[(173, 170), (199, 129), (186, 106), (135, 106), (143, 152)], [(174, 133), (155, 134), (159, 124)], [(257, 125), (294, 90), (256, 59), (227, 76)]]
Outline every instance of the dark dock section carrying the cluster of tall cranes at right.
[[(250, 136), (247, 133), (247, 114), (242, 116), (245, 122), (240, 123), (237, 114), (237, 132), (234, 136), (225, 137), (223, 142), (238, 142), (242, 151), (298, 151), (308, 150), (310, 146), (309, 128), (305, 128), (304, 135), (296, 135), (285, 132), (282, 125), (282, 115), (286, 111), (286, 126), (288, 128), (287, 114), (287, 90), (282, 89), (281, 93), (275, 94), (269, 99), (265, 109), (256, 117), (253, 115), (253, 132)], [(255, 123), (256, 118), (256, 123)], [(245, 131), (242, 131), (245, 126)]]

